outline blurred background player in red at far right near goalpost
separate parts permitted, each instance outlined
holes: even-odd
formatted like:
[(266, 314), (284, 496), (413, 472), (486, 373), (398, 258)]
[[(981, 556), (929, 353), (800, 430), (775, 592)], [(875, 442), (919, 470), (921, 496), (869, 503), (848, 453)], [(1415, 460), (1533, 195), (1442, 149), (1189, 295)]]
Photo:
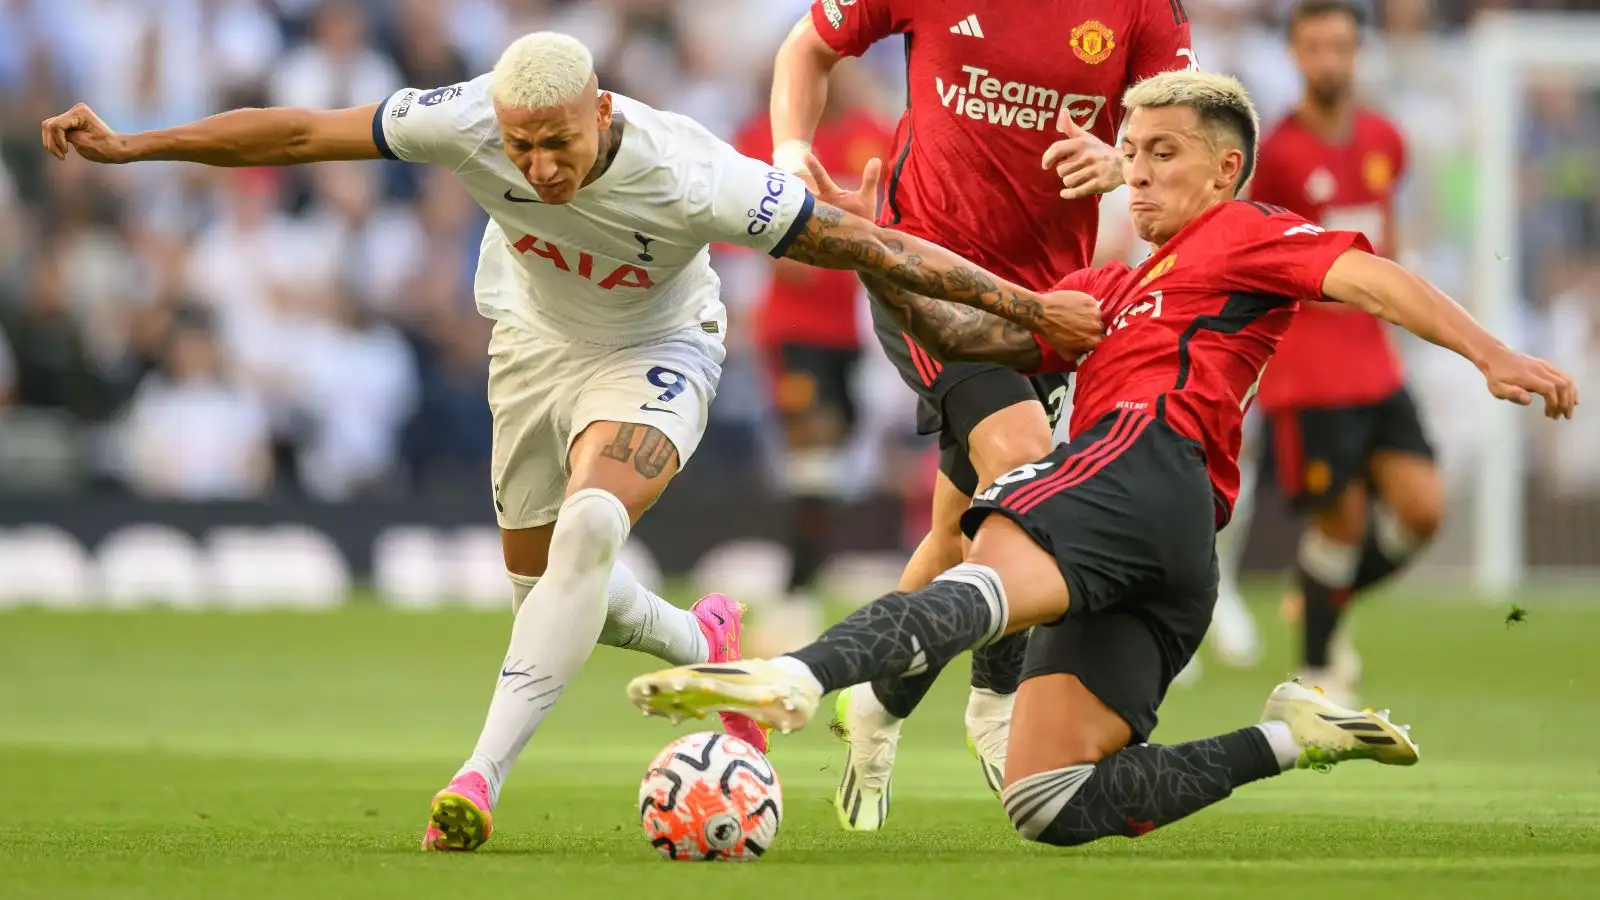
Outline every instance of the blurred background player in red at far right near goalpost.
[[(1363, 16), (1347, 0), (1294, 8), (1290, 51), (1306, 93), (1262, 139), (1251, 197), (1358, 231), (1394, 258), (1406, 152), (1398, 128), (1354, 98)], [(1342, 612), (1411, 560), (1443, 516), (1434, 450), (1387, 331), (1358, 309), (1307, 307), (1261, 383), (1278, 484), (1309, 516), (1286, 602), (1301, 610), (1301, 677), (1347, 706), (1360, 658)]]

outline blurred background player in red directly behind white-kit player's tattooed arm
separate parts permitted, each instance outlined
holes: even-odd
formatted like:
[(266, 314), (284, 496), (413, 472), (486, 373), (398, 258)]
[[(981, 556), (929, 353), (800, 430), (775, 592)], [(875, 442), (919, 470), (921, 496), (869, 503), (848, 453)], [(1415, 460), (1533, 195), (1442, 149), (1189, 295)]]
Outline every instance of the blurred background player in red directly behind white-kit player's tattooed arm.
[[(842, 74), (816, 127), (813, 152), (834, 171), (859, 173), (890, 154), (893, 135), (862, 102), (854, 74)], [(754, 115), (734, 138), (754, 159), (773, 159), (773, 125)], [(854, 184), (851, 184), (854, 187)], [(757, 307), (755, 340), (771, 375), (782, 418), (787, 458), (784, 488), (790, 498), (787, 599), (755, 617), (749, 649), (782, 652), (821, 634), (822, 609), (811, 586), (830, 551), (834, 508), (846, 487), (845, 444), (856, 426), (853, 384), (861, 360), (856, 312), (861, 282), (851, 272), (773, 259), (771, 282)]]

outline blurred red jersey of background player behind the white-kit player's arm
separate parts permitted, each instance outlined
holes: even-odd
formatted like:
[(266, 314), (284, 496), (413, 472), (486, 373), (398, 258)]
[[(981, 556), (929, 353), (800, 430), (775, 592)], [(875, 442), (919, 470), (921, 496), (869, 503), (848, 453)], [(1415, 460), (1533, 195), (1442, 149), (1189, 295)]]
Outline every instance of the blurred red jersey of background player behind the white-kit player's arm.
[[(854, 189), (869, 160), (888, 159), (891, 141), (893, 135), (875, 117), (850, 110), (818, 125), (811, 149), (834, 181)], [(750, 119), (733, 146), (747, 157), (773, 159), (771, 119), (765, 112)], [(861, 280), (856, 274), (798, 263), (782, 266), (757, 314), (757, 340), (765, 346), (859, 346), (856, 293), (861, 291)]]

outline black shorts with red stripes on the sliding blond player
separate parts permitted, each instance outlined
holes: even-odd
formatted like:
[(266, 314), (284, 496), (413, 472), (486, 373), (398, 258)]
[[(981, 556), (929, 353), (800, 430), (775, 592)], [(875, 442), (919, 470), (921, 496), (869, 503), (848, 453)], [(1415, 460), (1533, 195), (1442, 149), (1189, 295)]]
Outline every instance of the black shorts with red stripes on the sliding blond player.
[(962, 516), (968, 536), (1000, 514), (1056, 557), (1067, 615), (1034, 629), (1022, 677), (1074, 674), (1150, 737), (1157, 708), (1216, 605), (1216, 501), (1200, 445), (1118, 412), (1037, 463), (995, 479)]

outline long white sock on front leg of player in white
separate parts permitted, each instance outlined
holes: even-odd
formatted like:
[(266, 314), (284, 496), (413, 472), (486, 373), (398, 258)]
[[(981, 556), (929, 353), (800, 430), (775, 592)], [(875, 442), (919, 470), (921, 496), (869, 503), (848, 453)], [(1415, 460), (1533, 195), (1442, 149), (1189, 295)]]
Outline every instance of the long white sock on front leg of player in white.
[(512, 762), (584, 668), (605, 626), (606, 581), (627, 540), (622, 501), (586, 488), (566, 498), (550, 536), (550, 564), (528, 591), (510, 629), (483, 733), (461, 773), (477, 772), (499, 799)]

